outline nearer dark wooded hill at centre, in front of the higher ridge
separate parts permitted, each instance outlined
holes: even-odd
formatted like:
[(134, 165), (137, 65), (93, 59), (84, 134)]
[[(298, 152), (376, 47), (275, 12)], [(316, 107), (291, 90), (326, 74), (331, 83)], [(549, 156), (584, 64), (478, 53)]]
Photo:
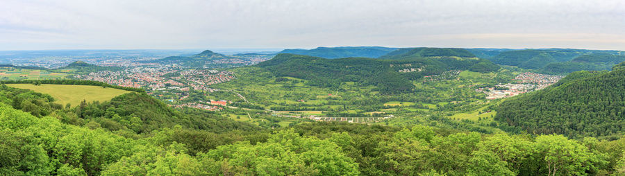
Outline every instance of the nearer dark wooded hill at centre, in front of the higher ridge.
[(311, 85), (338, 87), (341, 82), (363, 82), (376, 85), (381, 91), (407, 91), (413, 85), (408, 78), (391, 67), (398, 62), (371, 58), (341, 58), (328, 60), (308, 55), (278, 54), (256, 67), (275, 76), (310, 80)]

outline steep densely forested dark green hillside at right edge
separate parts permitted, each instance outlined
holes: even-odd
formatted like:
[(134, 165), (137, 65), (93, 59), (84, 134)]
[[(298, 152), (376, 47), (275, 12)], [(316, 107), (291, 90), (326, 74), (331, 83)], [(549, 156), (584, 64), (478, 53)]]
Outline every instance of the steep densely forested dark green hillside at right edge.
[(536, 134), (621, 137), (625, 130), (623, 90), (625, 69), (580, 71), (546, 89), (504, 101), (495, 120)]

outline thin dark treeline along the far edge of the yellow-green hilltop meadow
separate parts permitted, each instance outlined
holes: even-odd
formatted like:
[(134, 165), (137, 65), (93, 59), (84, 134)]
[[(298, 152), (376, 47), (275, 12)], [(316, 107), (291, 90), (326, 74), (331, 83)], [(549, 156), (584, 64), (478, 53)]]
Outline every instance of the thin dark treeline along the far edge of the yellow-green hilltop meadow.
[(122, 89), (126, 91), (145, 92), (145, 90), (141, 88), (109, 85), (104, 82), (99, 82), (99, 81), (94, 81), (94, 80), (1, 80), (0, 84), (93, 85), (93, 86), (101, 86), (101, 87), (110, 87), (113, 89)]

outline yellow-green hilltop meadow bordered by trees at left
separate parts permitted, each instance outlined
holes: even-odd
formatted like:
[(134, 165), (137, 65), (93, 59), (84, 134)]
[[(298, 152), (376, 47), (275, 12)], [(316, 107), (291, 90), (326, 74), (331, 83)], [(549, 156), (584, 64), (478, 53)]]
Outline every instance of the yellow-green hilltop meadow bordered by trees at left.
[(32, 84), (9, 84), (9, 87), (16, 87), (20, 89), (30, 89), (43, 94), (49, 94), (54, 97), (54, 101), (61, 105), (67, 103), (72, 104), (72, 107), (80, 105), (82, 100), (92, 101), (107, 101), (115, 96), (130, 93), (131, 91), (125, 91), (122, 89), (103, 88), (99, 86), (90, 85), (32, 85)]

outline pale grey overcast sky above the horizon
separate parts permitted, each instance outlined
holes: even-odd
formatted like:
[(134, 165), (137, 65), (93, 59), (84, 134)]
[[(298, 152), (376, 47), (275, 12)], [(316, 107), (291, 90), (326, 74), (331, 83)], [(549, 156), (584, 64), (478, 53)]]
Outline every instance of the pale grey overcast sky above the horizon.
[(317, 46), (625, 50), (625, 1), (0, 0), (0, 51)]

